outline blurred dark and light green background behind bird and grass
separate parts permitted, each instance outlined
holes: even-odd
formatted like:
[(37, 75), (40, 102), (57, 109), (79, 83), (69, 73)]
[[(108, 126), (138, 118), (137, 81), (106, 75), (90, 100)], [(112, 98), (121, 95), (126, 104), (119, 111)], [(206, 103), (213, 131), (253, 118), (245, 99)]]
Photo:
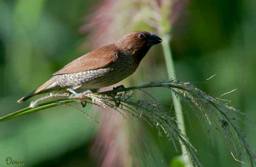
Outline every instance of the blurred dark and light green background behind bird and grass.
[[(44, 83), (53, 72), (91, 50), (84, 47), (85, 41), (90, 43), (88, 34), (79, 33), (79, 29), (86, 24), (84, 18), (96, 3), (93, 0), (0, 0), (0, 116), (29, 105), (16, 101)], [(171, 41), (175, 75), (180, 80), (194, 81), (198, 88), (213, 96), (238, 88), (223, 98), (230, 99), (230, 105), (249, 117), (256, 116), (255, 9), (254, 0), (191, 1), (183, 11), (185, 19), (173, 26)], [(122, 36), (125, 32), (116, 33)], [(140, 84), (166, 77), (161, 46), (149, 52), (135, 74), (124, 83)], [(216, 76), (206, 82), (213, 74)], [(154, 89), (152, 93), (163, 103), (171, 104), (171, 94), (165, 89)], [(91, 105), (84, 111), (98, 120), (104, 112)], [(190, 142), (204, 166), (241, 166), (219, 136), (213, 137), (212, 144), (190, 110), (185, 114), (185, 123)], [(62, 105), (0, 125), (0, 167), (8, 166), (6, 157), (24, 160), (26, 167), (95, 166), (96, 160), (90, 152), (100, 125), (73, 108)], [(142, 148), (142, 152), (147, 152), (144, 159), (150, 166), (170, 166), (180, 151), (176, 152), (172, 142), (158, 137), (157, 130), (146, 123), (134, 124), (131, 129), (136, 131), (138, 126), (145, 131), (144, 144), (150, 145)], [(256, 147), (253, 123), (241, 126)], [(126, 136), (136, 133), (125, 129), (122, 132)], [(137, 144), (126, 147), (134, 148)]]

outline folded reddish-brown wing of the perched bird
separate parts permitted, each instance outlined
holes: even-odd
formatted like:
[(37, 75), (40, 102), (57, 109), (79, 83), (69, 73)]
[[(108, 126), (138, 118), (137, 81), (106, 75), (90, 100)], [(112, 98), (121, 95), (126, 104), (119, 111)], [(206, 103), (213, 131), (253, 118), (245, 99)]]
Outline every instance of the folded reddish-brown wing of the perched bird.
[(72, 74), (103, 68), (114, 62), (117, 58), (118, 52), (114, 45), (107, 45), (73, 60), (52, 75)]

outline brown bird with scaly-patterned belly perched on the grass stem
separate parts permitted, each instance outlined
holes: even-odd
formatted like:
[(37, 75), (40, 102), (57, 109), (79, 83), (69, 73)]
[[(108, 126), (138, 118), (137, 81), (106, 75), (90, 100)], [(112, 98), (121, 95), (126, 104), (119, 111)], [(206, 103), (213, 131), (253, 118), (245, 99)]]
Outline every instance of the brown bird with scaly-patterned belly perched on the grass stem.
[(119, 41), (93, 50), (68, 63), (38, 89), (23, 96), (21, 103), (32, 96), (57, 90), (67, 90), (75, 96), (111, 86), (129, 77), (138, 68), (149, 49), (162, 42), (154, 33), (130, 32)]

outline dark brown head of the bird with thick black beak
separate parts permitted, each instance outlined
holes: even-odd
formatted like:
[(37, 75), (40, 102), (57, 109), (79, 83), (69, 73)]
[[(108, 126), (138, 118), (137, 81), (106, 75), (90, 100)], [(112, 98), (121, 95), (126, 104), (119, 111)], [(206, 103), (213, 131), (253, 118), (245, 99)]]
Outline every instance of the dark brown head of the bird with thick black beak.
[(142, 60), (149, 49), (162, 42), (162, 39), (146, 31), (131, 32), (115, 43), (120, 51), (132, 54), (137, 60)]

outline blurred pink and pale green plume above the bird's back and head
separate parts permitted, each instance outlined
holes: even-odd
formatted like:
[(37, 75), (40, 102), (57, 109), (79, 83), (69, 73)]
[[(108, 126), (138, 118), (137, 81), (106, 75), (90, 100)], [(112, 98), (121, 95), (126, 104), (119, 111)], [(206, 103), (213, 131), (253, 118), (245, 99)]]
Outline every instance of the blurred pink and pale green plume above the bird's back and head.
[[(165, 35), (184, 13), (189, 0), (104, 0), (95, 6), (79, 30), (89, 33), (86, 45), (111, 44), (133, 30)], [(161, 25), (161, 24), (164, 24)]]

